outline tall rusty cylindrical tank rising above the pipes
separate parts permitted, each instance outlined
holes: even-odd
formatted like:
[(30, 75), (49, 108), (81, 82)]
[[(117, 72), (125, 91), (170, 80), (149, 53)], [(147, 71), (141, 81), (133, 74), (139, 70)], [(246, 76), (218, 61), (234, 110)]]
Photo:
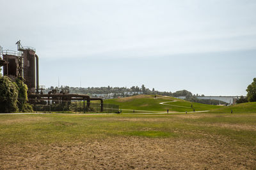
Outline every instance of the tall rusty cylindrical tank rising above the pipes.
[(35, 93), (35, 52), (23, 50), (23, 68), (25, 84), (31, 93)]

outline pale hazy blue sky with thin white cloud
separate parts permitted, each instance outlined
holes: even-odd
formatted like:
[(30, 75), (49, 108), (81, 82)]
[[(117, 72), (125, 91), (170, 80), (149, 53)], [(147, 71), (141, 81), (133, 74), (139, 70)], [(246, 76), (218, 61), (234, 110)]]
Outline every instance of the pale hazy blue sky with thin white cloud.
[(40, 85), (245, 96), (254, 0), (0, 0), (0, 45), (33, 46)]

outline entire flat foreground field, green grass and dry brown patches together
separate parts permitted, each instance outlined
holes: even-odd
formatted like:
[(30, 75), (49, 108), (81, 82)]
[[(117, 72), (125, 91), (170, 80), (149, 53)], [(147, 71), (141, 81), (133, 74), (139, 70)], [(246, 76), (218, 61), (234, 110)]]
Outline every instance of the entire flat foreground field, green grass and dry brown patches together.
[(0, 115), (0, 169), (255, 169), (255, 113)]

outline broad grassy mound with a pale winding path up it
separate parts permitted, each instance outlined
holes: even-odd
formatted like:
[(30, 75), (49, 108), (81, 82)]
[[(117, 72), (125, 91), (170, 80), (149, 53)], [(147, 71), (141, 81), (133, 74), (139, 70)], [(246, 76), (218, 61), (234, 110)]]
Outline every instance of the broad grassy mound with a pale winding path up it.
[[(157, 98), (154, 99), (154, 95), (140, 95), (118, 99), (108, 99), (105, 100), (104, 103), (118, 104), (119, 108), (122, 108), (123, 110), (145, 111), (166, 111), (168, 109), (169, 111), (175, 112), (189, 112), (193, 111), (193, 109), (195, 109), (195, 111), (204, 111), (214, 110), (221, 107), (209, 104), (191, 103), (189, 101), (184, 101), (174, 97), (157, 96)], [(191, 104), (193, 105), (193, 108), (191, 108)]]

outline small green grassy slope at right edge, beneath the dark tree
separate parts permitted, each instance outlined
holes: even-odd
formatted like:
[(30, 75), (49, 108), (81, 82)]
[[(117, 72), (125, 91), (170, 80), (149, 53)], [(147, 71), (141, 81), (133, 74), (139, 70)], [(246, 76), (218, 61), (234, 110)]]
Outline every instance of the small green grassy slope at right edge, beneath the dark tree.
[(235, 104), (233, 106), (218, 108), (216, 110), (211, 110), (211, 113), (256, 113), (256, 102), (252, 103), (241, 103)]

